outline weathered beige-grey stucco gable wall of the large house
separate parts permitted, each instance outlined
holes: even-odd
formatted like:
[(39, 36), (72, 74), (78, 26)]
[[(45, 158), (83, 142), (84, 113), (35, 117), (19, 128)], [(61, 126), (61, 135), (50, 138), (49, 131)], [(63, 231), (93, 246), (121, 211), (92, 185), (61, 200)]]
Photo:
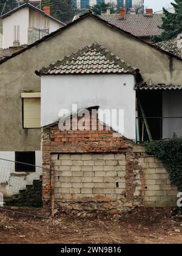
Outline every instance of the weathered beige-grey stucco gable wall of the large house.
[(41, 131), (22, 129), (20, 94), (41, 90), (40, 77), (34, 73), (36, 69), (48, 66), (94, 41), (136, 68), (140, 68), (147, 82), (181, 84), (180, 60), (169, 60), (169, 55), (89, 16), (0, 65), (0, 109), (3, 124), (0, 127), (1, 151), (40, 149)]

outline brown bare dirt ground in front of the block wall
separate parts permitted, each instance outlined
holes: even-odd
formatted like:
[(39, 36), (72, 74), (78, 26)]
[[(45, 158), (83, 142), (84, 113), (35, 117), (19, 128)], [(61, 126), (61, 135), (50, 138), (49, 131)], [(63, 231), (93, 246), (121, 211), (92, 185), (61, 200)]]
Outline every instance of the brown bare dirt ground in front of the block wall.
[[(13, 209), (15, 210), (15, 209)], [(42, 210), (16, 209), (45, 215)], [(164, 210), (137, 209), (123, 216), (38, 219), (0, 210), (0, 243), (182, 243), (182, 219)]]

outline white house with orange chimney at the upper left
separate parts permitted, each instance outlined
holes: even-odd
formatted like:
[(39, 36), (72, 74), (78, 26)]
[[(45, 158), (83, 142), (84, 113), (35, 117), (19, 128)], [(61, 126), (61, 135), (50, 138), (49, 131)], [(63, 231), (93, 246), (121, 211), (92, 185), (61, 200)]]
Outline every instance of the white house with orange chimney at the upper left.
[(65, 26), (50, 16), (49, 7), (43, 10), (25, 3), (1, 16), (0, 48), (32, 44), (47, 34)]

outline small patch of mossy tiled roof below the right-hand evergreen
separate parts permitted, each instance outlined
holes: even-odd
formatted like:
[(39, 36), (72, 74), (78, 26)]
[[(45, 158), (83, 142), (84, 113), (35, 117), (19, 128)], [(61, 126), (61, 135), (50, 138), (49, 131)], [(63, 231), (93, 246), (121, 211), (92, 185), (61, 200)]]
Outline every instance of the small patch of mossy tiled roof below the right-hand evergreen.
[(178, 57), (182, 57), (181, 56), (181, 51), (177, 46), (177, 41), (178, 41), (177, 38), (175, 38), (175, 39), (172, 39), (172, 40), (169, 40), (169, 41), (163, 41), (163, 42), (160, 42), (160, 43), (155, 43), (155, 46), (160, 47), (164, 51), (175, 54)]

